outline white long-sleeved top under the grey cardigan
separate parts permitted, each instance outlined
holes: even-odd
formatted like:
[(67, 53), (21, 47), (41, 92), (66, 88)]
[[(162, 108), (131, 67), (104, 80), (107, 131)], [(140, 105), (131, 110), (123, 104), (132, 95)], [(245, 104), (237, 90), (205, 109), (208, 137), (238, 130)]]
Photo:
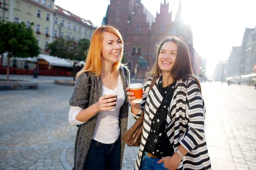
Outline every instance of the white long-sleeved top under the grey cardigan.
[[(104, 90), (108, 90), (107, 87), (102, 86), (102, 94)], [(114, 111), (102, 111), (97, 113), (97, 123), (93, 134), (93, 139), (99, 141), (103, 144), (114, 143), (120, 135), (119, 127), (119, 111), (125, 102), (125, 92), (122, 86), (121, 76), (119, 75), (118, 84), (115, 89), (118, 92), (116, 100), (116, 109)], [(69, 112), (69, 122), (72, 126), (78, 124), (84, 124), (85, 122), (80, 122), (76, 120), (77, 114), (83, 110), (83, 108), (78, 106), (71, 106)]]

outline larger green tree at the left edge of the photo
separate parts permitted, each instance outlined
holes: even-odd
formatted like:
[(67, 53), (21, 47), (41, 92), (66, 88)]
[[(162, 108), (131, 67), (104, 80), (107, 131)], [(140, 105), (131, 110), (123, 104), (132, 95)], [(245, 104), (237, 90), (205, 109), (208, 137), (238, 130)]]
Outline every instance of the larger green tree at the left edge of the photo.
[(0, 21), (0, 54), (8, 53), (7, 81), (9, 80), (10, 58), (12, 56), (27, 58), (40, 54), (38, 43), (33, 35), (30, 24), (29, 28), (25, 23), (11, 23)]

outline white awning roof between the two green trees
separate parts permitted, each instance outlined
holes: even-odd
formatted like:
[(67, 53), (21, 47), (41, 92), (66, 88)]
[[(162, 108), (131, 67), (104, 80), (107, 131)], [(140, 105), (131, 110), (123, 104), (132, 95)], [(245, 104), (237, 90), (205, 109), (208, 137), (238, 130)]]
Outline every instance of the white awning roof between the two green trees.
[(38, 58), (47, 61), (51, 66), (73, 67), (73, 64), (66, 61), (64, 58), (58, 58), (43, 54), (38, 55)]

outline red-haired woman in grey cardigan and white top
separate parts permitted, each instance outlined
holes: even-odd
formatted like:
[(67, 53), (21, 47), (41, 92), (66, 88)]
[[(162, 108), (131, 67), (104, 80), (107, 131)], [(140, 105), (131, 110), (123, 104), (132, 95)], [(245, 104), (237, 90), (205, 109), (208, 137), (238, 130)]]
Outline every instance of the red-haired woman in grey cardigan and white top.
[[(69, 100), (69, 122), (79, 125), (74, 170), (120, 170), (127, 131), (130, 72), (121, 63), (124, 43), (112, 26), (100, 26), (92, 35), (84, 68)], [(91, 84), (90, 84), (90, 83)], [(105, 92), (114, 90), (117, 97)], [(116, 105), (116, 106), (114, 106)]]

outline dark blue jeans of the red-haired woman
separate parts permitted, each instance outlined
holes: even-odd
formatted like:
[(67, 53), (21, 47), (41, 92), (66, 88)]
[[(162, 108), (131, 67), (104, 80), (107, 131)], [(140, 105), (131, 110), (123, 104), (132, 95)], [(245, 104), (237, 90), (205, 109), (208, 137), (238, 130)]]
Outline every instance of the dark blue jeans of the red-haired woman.
[(92, 140), (84, 163), (84, 170), (119, 170), (121, 143), (102, 144)]

